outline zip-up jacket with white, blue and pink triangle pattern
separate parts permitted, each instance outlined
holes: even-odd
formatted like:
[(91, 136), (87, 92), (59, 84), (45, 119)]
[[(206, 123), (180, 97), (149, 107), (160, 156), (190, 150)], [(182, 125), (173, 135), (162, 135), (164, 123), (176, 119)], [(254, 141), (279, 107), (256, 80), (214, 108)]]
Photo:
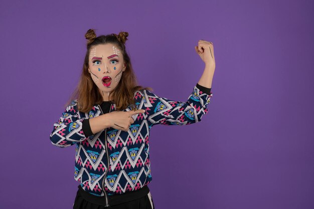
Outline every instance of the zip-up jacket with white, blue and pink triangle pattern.
[[(200, 89), (206, 89), (207, 93)], [(82, 129), (83, 120), (103, 114), (102, 110), (99, 105), (94, 105), (88, 113), (79, 112), (77, 100), (73, 100), (54, 123), (50, 140), (58, 147), (75, 144), (74, 178), (85, 191), (107, 197), (137, 190), (152, 179), (148, 144), (150, 128), (156, 124), (200, 122), (212, 97), (208, 89), (197, 84), (186, 102), (159, 97), (148, 90), (136, 91), (136, 107), (146, 112), (132, 116), (134, 123), (128, 131), (109, 127), (88, 137)], [(110, 112), (115, 110), (115, 104), (111, 104)], [(129, 106), (122, 111), (131, 110)]]

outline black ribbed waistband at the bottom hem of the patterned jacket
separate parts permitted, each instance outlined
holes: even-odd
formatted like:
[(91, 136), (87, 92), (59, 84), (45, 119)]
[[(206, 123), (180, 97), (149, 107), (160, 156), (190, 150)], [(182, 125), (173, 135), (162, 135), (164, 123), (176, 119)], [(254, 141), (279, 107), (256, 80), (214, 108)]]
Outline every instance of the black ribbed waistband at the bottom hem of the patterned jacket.
[[(106, 197), (105, 196), (93, 195), (93, 194), (85, 191), (81, 185), (78, 185), (78, 188), (79, 188), (79, 192), (80, 192), (81, 196), (84, 199), (86, 199), (87, 201), (89, 201), (93, 204), (106, 205)], [(149, 192), (148, 186), (144, 185), (142, 188), (135, 190), (135, 191), (127, 191), (123, 194), (107, 195), (109, 206), (141, 198), (141, 197), (145, 196), (148, 192)]]

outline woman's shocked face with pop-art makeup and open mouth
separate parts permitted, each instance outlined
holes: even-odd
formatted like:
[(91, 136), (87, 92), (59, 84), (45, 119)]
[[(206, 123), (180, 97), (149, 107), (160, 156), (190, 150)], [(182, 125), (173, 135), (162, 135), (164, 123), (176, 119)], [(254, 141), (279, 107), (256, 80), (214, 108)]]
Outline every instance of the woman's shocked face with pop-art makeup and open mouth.
[(122, 52), (113, 44), (94, 46), (90, 49), (88, 64), (88, 72), (97, 85), (103, 101), (109, 101), (109, 92), (118, 85), (125, 71)]

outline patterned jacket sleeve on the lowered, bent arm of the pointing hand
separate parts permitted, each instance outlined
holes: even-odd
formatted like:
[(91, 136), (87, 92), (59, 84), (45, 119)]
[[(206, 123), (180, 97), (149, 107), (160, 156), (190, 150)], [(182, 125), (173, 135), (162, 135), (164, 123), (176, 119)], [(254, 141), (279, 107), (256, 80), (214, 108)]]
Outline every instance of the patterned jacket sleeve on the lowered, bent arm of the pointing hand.
[(67, 106), (50, 134), (53, 145), (68, 147), (86, 139), (82, 123), (85, 119), (78, 118), (77, 102), (74, 100)]

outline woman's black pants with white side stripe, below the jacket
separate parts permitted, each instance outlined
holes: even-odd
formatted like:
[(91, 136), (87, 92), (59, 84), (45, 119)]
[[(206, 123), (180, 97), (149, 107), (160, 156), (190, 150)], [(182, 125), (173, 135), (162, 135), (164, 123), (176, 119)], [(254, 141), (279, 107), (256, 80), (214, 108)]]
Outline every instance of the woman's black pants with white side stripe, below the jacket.
[[(80, 186), (80, 185), (79, 185)], [(120, 204), (110, 205), (109, 207), (105, 207), (100, 204), (96, 204), (95, 202), (90, 202), (86, 199), (88, 194), (82, 191), (83, 189), (79, 188), (76, 193), (76, 197), (73, 204), (73, 209), (154, 209), (155, 206), (153, 204), (150, 192), (145, 196), (140, 198), (130, 200), (127, 202), (123, 202)], [(82, 192), (84, 195), (82, 195)], [(92, 195), (92, 194), (90, 194)], [(83, 197), (85, 196), (85, 198)]]

